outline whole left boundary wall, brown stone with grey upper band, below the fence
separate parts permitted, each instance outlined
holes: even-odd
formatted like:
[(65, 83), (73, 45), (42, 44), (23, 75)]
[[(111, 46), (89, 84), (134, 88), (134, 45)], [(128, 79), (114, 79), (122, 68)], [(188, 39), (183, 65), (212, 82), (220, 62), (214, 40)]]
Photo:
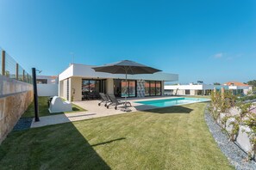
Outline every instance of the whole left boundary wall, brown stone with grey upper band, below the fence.
[(32, 102), (32, 89), (31, 84), (0, 76), (0, 143)]

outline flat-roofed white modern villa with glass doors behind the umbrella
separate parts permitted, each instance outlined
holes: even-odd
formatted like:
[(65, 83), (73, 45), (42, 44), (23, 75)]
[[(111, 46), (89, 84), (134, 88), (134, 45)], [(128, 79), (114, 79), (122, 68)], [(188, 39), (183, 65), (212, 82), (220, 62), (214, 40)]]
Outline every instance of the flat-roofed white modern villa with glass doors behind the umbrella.
[[(96, 72), (92, 65), (71, 64), (59, 74), (59, 96), (66, 100), (84, 100), (88, 93), (115, 94), (124, 97), (125, 75)], [(128, 75), (128, 97), (164, 94), (165, 82), (177, 82), (177, 74), (158, 72)]]

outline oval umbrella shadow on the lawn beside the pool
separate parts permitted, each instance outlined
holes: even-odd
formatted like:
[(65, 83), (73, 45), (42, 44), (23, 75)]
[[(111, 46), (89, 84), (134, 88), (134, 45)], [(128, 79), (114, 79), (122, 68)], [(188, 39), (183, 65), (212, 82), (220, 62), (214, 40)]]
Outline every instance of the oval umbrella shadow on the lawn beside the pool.
[(169, 106), (162, 108), (154, 108), (147, 110), (146, 112), (160, 113), (160, 114), (172, 114), (172, 113), (190, 113), (193, 109), (190, 109), (186, 106)]

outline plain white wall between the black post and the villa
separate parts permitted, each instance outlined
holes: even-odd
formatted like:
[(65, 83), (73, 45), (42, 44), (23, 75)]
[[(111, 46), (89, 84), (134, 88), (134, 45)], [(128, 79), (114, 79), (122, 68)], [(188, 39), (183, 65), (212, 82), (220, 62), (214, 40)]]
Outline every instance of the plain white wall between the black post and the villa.
[(58, 84), (37, 84), (38, 96), (58, 96)]

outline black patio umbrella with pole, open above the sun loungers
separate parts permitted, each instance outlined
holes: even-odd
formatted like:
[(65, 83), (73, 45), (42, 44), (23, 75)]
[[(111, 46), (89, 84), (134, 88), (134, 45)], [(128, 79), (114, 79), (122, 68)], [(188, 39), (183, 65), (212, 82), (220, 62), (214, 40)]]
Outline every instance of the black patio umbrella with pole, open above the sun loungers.
[(137, 75), (137, 74), (153, 74), (161, 70), (154, 69), (144, 64), (138, 64), (130, 60), (122, 60), (114, 64), (104, 64), (103, 66), (93, 67), (97, 72), (106, 72), (112, 74), (125, 74), (125, 110), (127, 109), (127, 75)]

